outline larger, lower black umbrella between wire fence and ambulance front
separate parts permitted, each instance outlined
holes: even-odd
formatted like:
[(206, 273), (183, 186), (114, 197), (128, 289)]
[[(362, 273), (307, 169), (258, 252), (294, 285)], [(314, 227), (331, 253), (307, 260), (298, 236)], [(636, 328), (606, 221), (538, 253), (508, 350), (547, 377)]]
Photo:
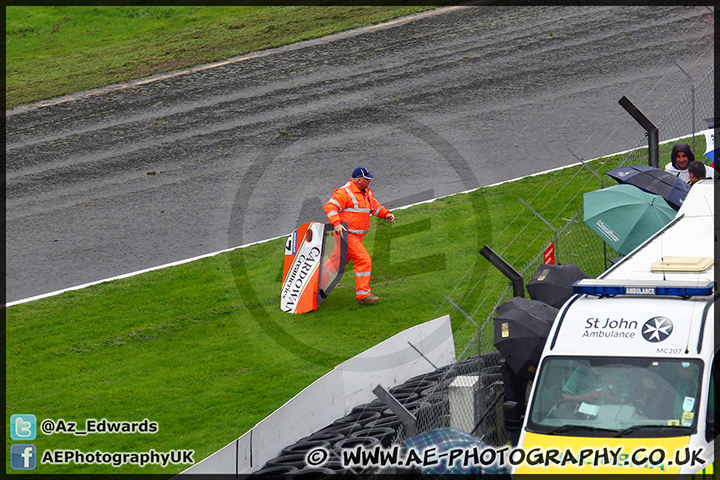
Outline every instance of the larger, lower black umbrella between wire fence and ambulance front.
[(558, 310), (515, 297), (496, 312), (493, 344), (516, 375), (532, 376)]

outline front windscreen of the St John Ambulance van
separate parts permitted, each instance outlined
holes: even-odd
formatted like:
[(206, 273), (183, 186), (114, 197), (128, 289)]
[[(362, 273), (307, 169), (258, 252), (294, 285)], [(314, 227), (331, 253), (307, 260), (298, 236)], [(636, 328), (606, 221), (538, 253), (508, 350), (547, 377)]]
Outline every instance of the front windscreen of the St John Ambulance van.
[(695, 428), (701, 373), (700, 360), (548, 357), (538, 374), (528, 430), (687, 435)]

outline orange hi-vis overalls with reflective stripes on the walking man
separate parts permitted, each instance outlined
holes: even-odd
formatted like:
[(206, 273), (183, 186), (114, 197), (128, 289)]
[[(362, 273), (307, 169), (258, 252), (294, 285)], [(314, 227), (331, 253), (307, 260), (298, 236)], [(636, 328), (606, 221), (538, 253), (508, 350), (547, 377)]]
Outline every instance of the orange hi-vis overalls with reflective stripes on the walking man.
[[(370, 277), (372, 276), (372, 260), (362, 244), (363, 238), (370, 230), (370, 215), (386, 218), (390, 210), (375, 200), (370, 188), (366, 188), (362, 192), (352, 181), (336, 189), (323, 210), (333, 226), (337, 226), (341, 222), (346, 222), (348, 225), (347, 261), (353, 261), (355, 298), (362, 300), (370, 295)], [(340, 251), (335, 249), (324, 268), (331, 272), (337, 271), (339, 258)]]

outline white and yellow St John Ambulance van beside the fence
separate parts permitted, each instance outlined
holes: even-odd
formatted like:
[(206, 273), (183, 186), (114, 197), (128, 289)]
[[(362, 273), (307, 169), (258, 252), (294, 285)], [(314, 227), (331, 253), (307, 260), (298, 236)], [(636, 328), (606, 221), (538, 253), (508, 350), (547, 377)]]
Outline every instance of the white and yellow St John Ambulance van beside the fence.
[(511, 472), (714, 474), (716, 243), (705, 180), (660, 232), (575, 283), (545, 344)]

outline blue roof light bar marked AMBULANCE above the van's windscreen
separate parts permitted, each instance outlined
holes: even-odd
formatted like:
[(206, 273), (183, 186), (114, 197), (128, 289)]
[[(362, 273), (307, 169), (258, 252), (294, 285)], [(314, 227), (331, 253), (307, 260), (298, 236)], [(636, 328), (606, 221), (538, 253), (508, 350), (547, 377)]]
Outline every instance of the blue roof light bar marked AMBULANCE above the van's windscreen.
[(573, 284), (573, 293), (599, 295), (601, 297), (663, 296), (663, 297), (705, 297), (715, 292), (715, 282), (708, 279), (698, 281), (625, 281), (584, 278)]

